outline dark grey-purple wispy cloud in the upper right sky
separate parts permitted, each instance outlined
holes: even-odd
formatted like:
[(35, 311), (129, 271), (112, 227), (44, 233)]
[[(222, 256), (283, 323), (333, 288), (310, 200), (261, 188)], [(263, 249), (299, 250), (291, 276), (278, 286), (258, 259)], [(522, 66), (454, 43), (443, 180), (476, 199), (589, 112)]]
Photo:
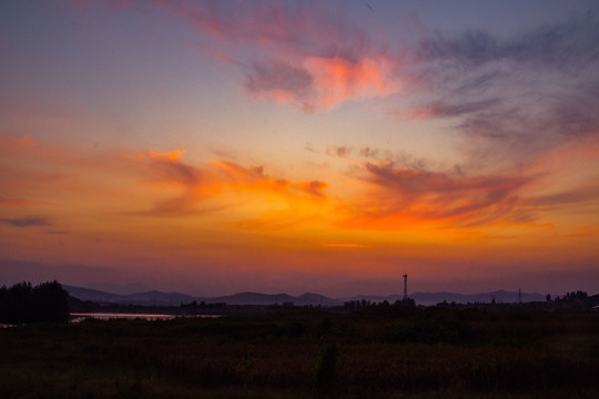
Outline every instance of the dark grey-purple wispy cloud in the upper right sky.
[(437, 33), (415, 49), (427, 100), (404, 119), (451, 117), (475, 150), (522, 158), (599, 133), (599, 25), (592, 17), (499, 38)]

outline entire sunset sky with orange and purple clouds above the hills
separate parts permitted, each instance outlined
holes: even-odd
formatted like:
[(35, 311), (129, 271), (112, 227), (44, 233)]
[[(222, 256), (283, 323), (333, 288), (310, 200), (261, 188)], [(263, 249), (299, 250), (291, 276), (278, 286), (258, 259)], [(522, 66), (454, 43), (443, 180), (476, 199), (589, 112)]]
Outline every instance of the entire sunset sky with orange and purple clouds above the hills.
[(599, 293), (593, 1), (0, 3), (0, 284)]

